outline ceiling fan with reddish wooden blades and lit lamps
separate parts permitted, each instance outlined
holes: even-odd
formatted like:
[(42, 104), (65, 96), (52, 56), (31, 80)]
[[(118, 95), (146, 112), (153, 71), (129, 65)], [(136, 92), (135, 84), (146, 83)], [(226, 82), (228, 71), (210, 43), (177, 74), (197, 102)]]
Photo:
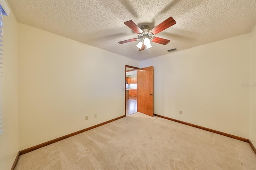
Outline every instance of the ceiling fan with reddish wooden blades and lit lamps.
[(145, 46), (146, 46), (146, 49), (149, 49), (150, 47), (152, 47), (150, 42), (160, 43), (163, 45), (166, 45), (168, 42), (170, 42), (170, 40), (154, 37), (153, 35), (165, 30), (166, 28), (169, 28), (170, 26), (173, 26), (174, 24), (176, 24), (176, 21), (172, 17), (169, 17), (168, 19), (164, 20), (164, 22), (160, 23), (158, 26), (156, 26), (152, 30), (149, 30), (148, 25), (143, 25), (139, 28), (132, 20), (126, 21), (124, 22), (124, 24), (128, 26), (130, 29), (132, 29), (134, 32), (136, 32), (138, 34), (138, 38), (124, 40), (118, 43), (122, 44), (122, 43), (141, 40), (136, 46), (139, 48), (139, 51), (142, 51), (145, 49)]

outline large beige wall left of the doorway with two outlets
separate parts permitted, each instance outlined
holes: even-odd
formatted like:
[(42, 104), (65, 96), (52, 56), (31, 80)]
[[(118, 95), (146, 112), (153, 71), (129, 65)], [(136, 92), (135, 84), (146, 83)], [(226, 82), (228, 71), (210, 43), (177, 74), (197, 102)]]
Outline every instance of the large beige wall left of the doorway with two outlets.
[(24, 24), (18, 31), (20, 150), (124, 115), (124, 65), (139, 61)]

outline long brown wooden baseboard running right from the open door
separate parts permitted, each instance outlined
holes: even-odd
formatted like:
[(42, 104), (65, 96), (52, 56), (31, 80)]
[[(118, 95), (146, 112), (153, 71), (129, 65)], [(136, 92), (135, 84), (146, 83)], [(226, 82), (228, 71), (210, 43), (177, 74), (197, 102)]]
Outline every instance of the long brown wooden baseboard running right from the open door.
[[(154, 114), (154, 115), (157, 116), (157, 117), (162, 117), (162, 118), (164, 118), (164, 119), (168, 119), (168, 120), (170, 120), (170, 121), (175, 121), (175, 122), (182, 123), (182, 124), (185, 124), (185, 125), (188, 125), (188, 126), (200, 128), (200, 129), (203, 129), (203, 130), (207, 130), (207, 131), (209, 131), (209, 132), (214, 132), (214, 133), (217, 133), (217, 134), (221, 134), (221, 135), (223, 135), (223, 136), (228, 136), (228, 137), (230, 137), (230, 138), (242, 140), (242, 141), (244, 141), (244, 142), (249, 142), (249, 139), (242, 138), (242, 137), (239, 137), (239, 136), (235, 136), (235, 135), (232, 135), (232, 134), (220, 132), (220, 131), (213, 130), (213, 129), (210, 129), (210, 128), (200, 127), (200, 126), (198, 126), (198, 125), (194, 125), (194, 124), (191, 124), (191, 123), (186, 123), (186, 122), (183, 122), (183, 121), (179, 121), (179, 120), (176, 120), (176, 119), (172, 119), (172, 118), (165, 117), (165, 116), (161, 116), (161, 115), (157, 115), (157, 114)], [(254, 151), (254, 152), (255, 152), (255, 151)]]

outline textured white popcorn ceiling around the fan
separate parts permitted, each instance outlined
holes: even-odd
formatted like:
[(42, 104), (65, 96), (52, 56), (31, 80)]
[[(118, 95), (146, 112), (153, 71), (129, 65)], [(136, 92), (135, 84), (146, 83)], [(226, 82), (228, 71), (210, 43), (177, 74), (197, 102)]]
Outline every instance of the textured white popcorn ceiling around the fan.
[[(231, 38), (256, 25), (256, 0), (8, 0), (18, 22), (136, 60)], [(176, 24), (157, 34), (167, 45), (152, 42), (138, 51), (138, 38), (124, 25), (154, 28), (172, 16)], [(149, 52), (149, 53), (148, 53)]]

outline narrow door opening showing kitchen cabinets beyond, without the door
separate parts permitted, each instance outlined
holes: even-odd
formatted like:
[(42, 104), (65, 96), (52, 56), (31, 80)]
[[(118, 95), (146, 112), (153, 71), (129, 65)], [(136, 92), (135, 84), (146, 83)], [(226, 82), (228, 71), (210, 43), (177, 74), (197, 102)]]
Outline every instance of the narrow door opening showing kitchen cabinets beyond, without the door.
[(128, 66), (125, 67), (125, 103), (126, 116), (132, 115), (138, 111), (138, 88), (137, 88), (138, 68)]

